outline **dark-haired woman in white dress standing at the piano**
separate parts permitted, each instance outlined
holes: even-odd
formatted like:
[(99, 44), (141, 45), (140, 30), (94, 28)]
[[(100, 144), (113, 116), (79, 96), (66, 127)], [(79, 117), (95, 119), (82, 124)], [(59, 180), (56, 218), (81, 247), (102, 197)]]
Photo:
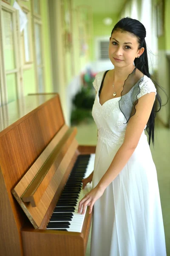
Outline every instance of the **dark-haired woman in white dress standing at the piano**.
[[(146, 30), (123, 18), (113, 28), (109, 58), (113, 70), (94, 80), (92, 110), (98, 128), (93, 189), (79, 203), (94, 218), (91, 256), (165, 256), (164, 226), (155, 164), (156, 87), (150, 79)], [(135, 65), (134, 65), (135, 64)], [(149, 144), (144, 129), (149, 129)]]

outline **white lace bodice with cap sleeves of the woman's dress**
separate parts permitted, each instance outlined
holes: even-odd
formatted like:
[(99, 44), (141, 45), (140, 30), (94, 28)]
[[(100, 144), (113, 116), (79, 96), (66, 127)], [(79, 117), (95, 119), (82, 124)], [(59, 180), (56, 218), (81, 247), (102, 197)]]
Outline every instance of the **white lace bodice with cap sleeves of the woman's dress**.
[[(119, 145), (123, 143), (125, 138), (127, 120), (119, 108), (119, 100), (121, 99), (121, 96), (109, 99), (103, 105), (99, 103), (99, 88), (102, 82), (104, 72), (105, 71), (99, 72), (96, 75), (93, 83), (96, 90), (96, 98), (92, 108), (92, 116), (98, 128), (98, 140), (105, 139), (108, 141), (108, 143)], [(135, 86), (136, 84), (134, 85), (134, 87)], [(137, 95), (137, 99), (139, 99), (146, 93), (156, 93), (155, 85), (153, 84), (152, 80), (147, 76), (144, 76), (143, 81), (140, 83), (139, 86), (140, 93)], [(127, 109), (129, 108), (129, 111), (132, 108), (134, 101), (136, 100), (136, 98), (133, 97), (134, 92), (135, 88), (122, 96), (123, 104), (126, 105)]]

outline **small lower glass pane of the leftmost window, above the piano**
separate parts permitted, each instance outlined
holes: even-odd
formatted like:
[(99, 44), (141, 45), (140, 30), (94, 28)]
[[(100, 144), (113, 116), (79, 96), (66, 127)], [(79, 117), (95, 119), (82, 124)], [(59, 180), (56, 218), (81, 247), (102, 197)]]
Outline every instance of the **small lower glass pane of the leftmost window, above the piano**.
[(17, 99), (16, 73), (6, 75), (8, 103)]

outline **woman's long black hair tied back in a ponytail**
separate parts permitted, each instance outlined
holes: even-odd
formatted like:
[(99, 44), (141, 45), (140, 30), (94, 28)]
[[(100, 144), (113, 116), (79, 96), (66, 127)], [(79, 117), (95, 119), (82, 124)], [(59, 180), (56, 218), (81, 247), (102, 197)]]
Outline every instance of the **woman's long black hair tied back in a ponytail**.
[[(135, 58), (135, 60), (134, 60), (135, 67), (137, 67), (144, 75), (146, 75), (147, 77), (152, 79), (152, 81), (155, 84), (157, 84), (153, 80), (153, 78), (150, 76), (150, 73), (149, 73), (148, 59), (147, 59), (147, 47), (146, 47), (146, 42), (145, 42), (146, 29), (145, 29), (144, 25), (139, 20), (135, 20), (135, 19), (126, 17), (126, 18), (122, 18), (121, 20), (119, 20), (118, 23), (116, 23), (116, 25), (114, 26), (114, 28), (111, 32), (111, 35), (114, 31), (130, 32), (131, 34), (133, 34), (137, 37), (137, 40), (139, 43), (139, 49), (144, 47), (144, 52), (142, 55), (140, 55), (140, 58)], [(161, 90), (162, 90), (162, 88), (161, 88)], [(156, 102), (158, 102), (158, 107), (159, 107), (158, 110), (157, 110)], [(150, 117), (148, 119), (147, 128), (146, 128), (147, 133), (149, 135), (149, 145), (150, 145), (150, 140), (152, 138), (153, 146), (154, 146), (155, 117), (156, 117), (156, 112), (160, 111), (160, 109), (161, 109), (161, 97), (157, 93), (156, 100), (153, 104), (153, 108), (150, 113)]]

